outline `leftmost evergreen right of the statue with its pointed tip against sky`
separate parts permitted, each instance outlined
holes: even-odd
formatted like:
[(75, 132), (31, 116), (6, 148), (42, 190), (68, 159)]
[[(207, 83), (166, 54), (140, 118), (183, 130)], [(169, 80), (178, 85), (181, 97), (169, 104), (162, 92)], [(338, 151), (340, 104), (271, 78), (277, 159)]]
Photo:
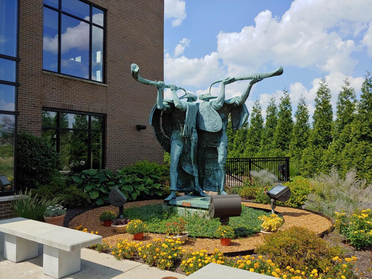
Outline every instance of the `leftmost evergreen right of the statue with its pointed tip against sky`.
[(252, 109), (251, 122), (247, 131), (246, 148), (244, 157), (257, 157), (261, 146), (261, 137), (263, 132), (262, 107), (260, 101), (256, 100)]

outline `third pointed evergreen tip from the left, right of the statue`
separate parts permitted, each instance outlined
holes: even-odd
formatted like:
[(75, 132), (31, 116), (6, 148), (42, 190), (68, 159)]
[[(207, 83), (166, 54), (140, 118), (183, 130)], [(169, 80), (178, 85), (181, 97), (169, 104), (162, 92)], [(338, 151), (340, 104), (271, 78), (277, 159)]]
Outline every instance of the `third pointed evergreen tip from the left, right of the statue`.
[(286, 89), (283, 90), (283, 94), (284, 96), (280, 97), (278, 125), (274, 134), (277, 155), (288, 153), (293, 128), (291, 97)]

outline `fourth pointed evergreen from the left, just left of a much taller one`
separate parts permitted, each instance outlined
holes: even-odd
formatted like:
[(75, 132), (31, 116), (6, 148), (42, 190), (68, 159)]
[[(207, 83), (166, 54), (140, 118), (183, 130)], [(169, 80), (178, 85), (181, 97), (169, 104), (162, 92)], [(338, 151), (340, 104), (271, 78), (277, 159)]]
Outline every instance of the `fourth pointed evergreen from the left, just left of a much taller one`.
[(297, 110), (295, 112), (295, 124), (293, 126), (292, 137), (289, 144), (291, 160), (298, 162), (301, 160), (302, 151), (307, 147), (310, 132), (309, 110), (304, 96), (301, 95)]

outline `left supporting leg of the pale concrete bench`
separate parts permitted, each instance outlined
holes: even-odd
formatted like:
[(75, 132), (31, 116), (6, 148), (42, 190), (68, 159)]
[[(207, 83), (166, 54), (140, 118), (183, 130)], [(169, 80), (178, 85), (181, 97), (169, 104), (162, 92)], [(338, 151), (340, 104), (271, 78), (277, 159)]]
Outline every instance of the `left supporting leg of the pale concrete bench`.
[(17, 263), (37, 256), (37, 242), (12, 234), (4, 234), (4, 259)]

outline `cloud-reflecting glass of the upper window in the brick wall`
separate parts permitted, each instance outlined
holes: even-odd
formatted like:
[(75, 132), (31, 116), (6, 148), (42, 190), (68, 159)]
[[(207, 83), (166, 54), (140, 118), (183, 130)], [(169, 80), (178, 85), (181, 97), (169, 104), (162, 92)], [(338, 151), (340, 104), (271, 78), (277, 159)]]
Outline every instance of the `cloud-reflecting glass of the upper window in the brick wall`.
[(60, 1), (61, 9), (57, 0), (51, 9), (44, 0), (43, 69), (103, 82), (104, 11), (80, 0)]

